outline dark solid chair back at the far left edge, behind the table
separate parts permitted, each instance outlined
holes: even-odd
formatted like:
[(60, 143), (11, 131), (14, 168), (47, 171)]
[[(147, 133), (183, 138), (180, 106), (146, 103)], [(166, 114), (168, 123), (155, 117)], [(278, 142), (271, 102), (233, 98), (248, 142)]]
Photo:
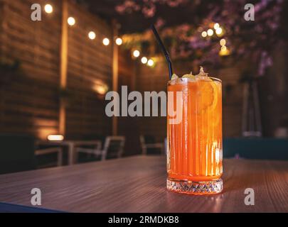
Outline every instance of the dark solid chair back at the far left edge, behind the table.
[(34, 138), (0, 134), (0, 174), (36, 169)]

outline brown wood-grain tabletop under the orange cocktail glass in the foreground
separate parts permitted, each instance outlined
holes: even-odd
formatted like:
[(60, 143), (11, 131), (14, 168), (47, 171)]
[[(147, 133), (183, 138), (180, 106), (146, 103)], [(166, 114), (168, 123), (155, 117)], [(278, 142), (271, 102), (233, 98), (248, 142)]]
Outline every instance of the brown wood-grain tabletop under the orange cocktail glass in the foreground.
[[(224, 191), (191, 196), (166, 190), (165, 157), (134, 156), (104, 162), (0, 175), (0, 201), (73, 212), (288, 212), (288, 162), (224, 160)], [(246, 188), (255, 205), (244, 203)]]

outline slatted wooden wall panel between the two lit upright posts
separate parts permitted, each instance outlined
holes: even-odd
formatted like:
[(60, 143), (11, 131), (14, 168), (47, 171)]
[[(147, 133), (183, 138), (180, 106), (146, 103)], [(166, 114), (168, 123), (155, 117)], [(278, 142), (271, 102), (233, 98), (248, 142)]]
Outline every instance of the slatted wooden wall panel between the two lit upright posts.
[[(112, 84), (112, 45), (102, 45), (107, 36), (112, 42), (112, 27), (95, 16), (70, 4), (76, 24), (69, 28), (68, 88), (78, 97), (67, 108), (68, 136), (110, 134), (110, 118), (105, 116), (105, 103), (97, 98), (95, 84)], [(95, 31), (96, 39), (87, 37)], [(75, 136), (73, 136), (75, 138)]]

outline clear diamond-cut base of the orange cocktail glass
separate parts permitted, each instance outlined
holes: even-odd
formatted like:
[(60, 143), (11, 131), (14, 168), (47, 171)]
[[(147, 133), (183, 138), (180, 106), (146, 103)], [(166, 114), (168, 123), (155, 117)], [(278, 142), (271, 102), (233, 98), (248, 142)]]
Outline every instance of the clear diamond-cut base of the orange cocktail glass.
[(167, 189), (185, 194), (218, 194), (223, 190), (223, 181), (215, 179), (208, 182), (193, 182), (167, 178)]

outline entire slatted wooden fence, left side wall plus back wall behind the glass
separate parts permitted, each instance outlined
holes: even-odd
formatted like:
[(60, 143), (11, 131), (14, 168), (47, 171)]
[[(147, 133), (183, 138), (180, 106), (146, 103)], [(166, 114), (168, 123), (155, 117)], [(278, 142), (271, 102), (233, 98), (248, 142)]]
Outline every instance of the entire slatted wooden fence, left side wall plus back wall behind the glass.
[[(61, 7), (60, 1), (49, 2), (53, 13), (43, 11), (42, 21), (35, 22), (31, 21), (34, 1), (0, 0), (0, 133), (29, 133), (41, 139), (58, 133), (59, 103), (64, 98), (66, 138), (110, 135), (112, 119), (105, 116), (105, 100), (99, 91), (112, 89), (112, 26), (69, 1), (69, 16), (76, 24), (68, 28), (68, 89), (60, 91)], [(38, 3), (44, 6), (46, 1)], [(95, 40), (87, 38), (91, 30)], [(105, 37), (110, 38), (108, 46), (102, 45)], [(7, 69), (5, 64), (16, 60), (20, 66)], [(177, 74), (191, 69), (190, 62), (174, 64)], [(238, 64), (209, 71), (223, 79), (223, 135), (227, 137), (241, 135), (241, 70)], [(150, 68), (131, 60), (129, 52), (119, 51), (119, 86), (127, 85), (129, 91), (165, 91), (167, 74), (166, 62)], [(165, 117), (119, 118), (118, 123), (128, 145), (139, 143), (141, 134), (154, 135), (158, 141), (166, 137)], [(127, 152), (132, 154), (135, 146)]]

